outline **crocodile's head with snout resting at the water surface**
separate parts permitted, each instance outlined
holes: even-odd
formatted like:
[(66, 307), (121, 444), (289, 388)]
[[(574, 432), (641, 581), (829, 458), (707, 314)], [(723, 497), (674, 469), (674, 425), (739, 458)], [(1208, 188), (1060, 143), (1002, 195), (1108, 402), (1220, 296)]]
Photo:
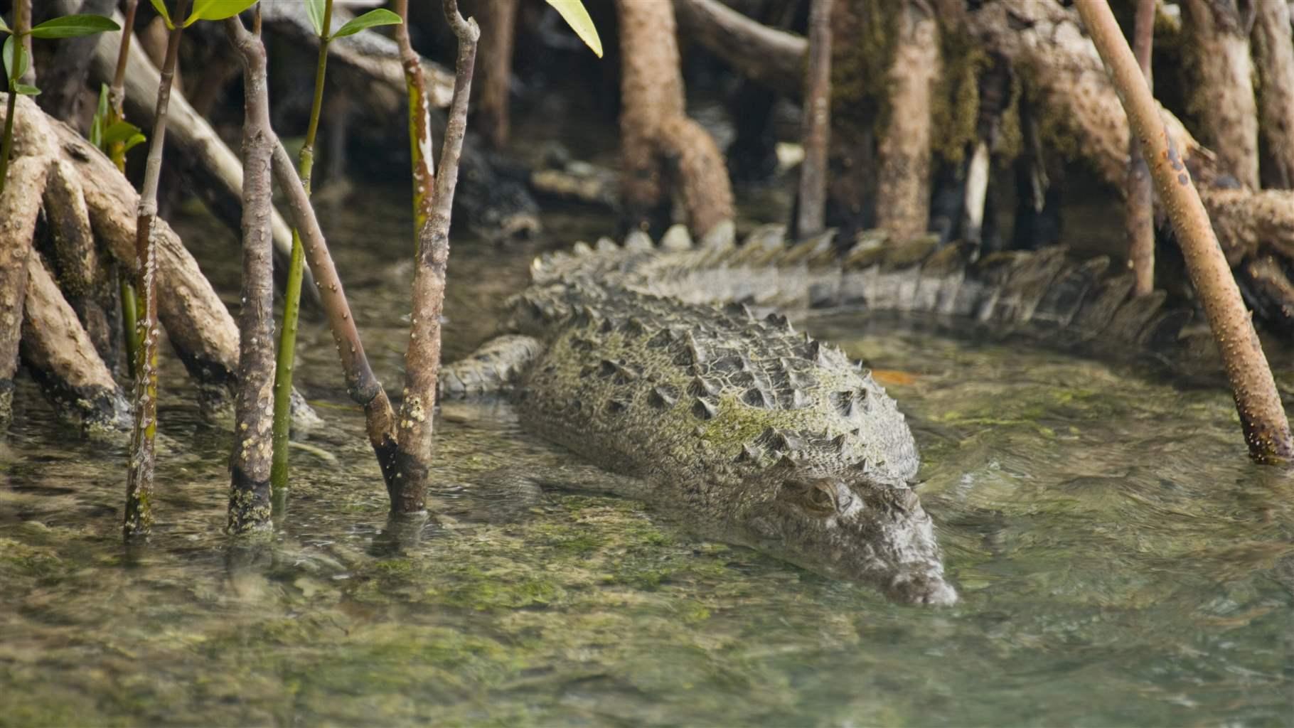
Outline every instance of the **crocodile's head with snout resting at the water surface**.
[(956, 603), (930, 516), (906, 484), (867, 475), (775, 477), (765, 491), (775, 489), (776, 495), (752, 508), (743, 524), (752, 546), (811, 572), (877, 587), (899, 603)]

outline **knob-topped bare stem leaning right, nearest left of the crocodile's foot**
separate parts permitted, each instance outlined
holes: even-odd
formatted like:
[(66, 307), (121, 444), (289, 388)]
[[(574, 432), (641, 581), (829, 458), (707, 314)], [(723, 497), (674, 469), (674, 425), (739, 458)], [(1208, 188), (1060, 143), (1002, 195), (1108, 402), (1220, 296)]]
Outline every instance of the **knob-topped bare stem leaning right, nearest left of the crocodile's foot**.
[[(432, 456), (432, 411), (436, 403), (436, 378), (440, 372), (440, 314), (445, 304), (445, 270), (449, 265), (449, 224), (458, 182), (458, 160), (467, 134), (467, 100), (472, 91), (476, 43), (480, 28), (476, 21), (458, 13), (455, 0), (443, 0), (445, 18), (458, 37), (458, 59), (454, 76), (454, 98), (449, 105), (449, 123), (436, 168), (435, 194), (426, 224), (418, 230), (418, 256), (413, 278), (413, 309), (409, 347), (405, 349), (405, 389), (397, 418), (396, 477), (391, 485), (391, 509), (395, 513), (419, 513), (426, 509), (427, 475)], [(410, 94), (410, 102), (414, 96)], [(419, 124), (411, 124), (417, 138)], [(428, 145), (430, 147), (430, 145)], [(430, 159), (424, 159), (430, 164)], [(418, 177), (414, 177), (417, 184)]]

